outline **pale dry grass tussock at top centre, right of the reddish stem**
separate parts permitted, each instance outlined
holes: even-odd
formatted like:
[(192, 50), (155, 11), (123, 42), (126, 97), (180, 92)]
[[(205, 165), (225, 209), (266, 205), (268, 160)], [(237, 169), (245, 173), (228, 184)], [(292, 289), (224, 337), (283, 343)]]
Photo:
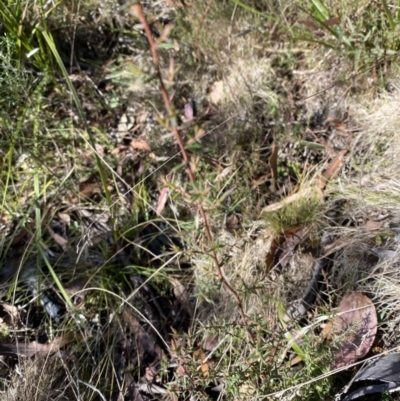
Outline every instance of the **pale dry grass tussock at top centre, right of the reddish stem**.
[(209, 101), (228, 117), (229, 113), (245, 113), (256, 101), (276, 111), (279, 95), (272, 89), (277, 77), (271, 52), (278, 54), (280, 49), (275, 44), (268, 49), (260, 45), (272, 34), (260, 20), (221, 2), (212, 2), (210, 8), (198, 4), (185, 13), (182, 18), (192, 30), (184, 25), (179, 32), (195, 43), (199, 57), (199, 69), (191, 82), (194, 93), (208, 92)]

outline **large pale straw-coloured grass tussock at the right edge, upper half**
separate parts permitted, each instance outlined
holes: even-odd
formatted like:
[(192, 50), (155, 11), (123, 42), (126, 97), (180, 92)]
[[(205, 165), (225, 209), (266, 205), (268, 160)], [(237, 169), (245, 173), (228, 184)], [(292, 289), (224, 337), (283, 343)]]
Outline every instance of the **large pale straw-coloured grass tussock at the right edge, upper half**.
[(338, 198), (351, 200), (350, 213), (355, 217), (374, 213), (399, 219), (399, 85), (400, 81), (394, 81), (390, 92), (350, 104), (360, 126), (352, 149), (352, 162), (360, 173), (340, 182)]

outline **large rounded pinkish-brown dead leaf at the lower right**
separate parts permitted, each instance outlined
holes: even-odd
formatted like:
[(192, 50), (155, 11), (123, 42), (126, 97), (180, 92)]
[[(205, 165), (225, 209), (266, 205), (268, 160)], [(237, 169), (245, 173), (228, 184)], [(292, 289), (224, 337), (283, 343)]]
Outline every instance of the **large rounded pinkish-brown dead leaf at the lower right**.
[(346, 295), (333, 319), (334, 364), (337, 369), (363, 358), (370, 351), (378, 329), (372, 301), (359, 292)]

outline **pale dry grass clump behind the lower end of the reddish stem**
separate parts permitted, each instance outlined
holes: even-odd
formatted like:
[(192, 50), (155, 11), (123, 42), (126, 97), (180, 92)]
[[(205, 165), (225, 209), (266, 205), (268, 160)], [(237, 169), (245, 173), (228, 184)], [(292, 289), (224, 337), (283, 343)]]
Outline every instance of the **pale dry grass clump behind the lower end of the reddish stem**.
[[(302, 297), (313, 275), (315, 259), (302, 249), (294, 252), (282, 271), (273, 267), (267, 271), (267, 258), (276, 233), (266, 227), (264, 221), (255, 221), (241, 234), (221, 230), (217, 235), (219, 258), (225, 260), (223, 271), (230, 285), (240, 295), (244, 312), (252, 319), (262, 316), (270, 328), (277, 327), (283, 311)], [(199, 304), (196, 319), (203, 324), (224, 321), (238, 323), (241, 317), (232, 293), (218, 286), (218, 278), (212, 260), (199, 252), (192, 260), (199, 294), (205, 300)], [(275, 269), (275, 270), (274, 270)]]

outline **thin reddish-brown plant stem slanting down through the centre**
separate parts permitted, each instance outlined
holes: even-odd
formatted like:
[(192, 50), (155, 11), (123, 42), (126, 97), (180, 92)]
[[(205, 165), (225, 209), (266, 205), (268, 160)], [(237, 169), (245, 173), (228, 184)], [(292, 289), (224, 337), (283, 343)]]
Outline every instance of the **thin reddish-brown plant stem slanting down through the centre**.
[[(190, 181), (192, 183), (194, 183), (195, 182), (194, 172), (193, 172), (193, 170), (192, 170), (192, 168), (190, 166), (189, 157), (187, 155), (185, 146), (184, 146), (184, 144), (182, 142), (182, 138), (179, 135), (179, 132), (178, 132), (178, 129), (177, 129), (178, 124), (177, 124), (177, 119), (176, 119), (176, 113), (175, 113), (174, 107), (172, 106), (171, 99), (170, 99), (170, 97), (168, 95), (168, 91), (167, 91), (167, 89), (165, 87), (164, 80), (162, 78), (161, 67), (160, 67), (160, 59), (158, 58), (158, 53), (157, 53), (157, 44), (155, 43), (155, 41), (153, 39), (153, 35), (151, 33), (149, 24), (147, 23), (147, 19), (146, 19), (145, 15), (144, 15), (143, 8), (142, 8), (142, 5), (141, 5), (139, 0), (137, 0), (135, 2), (135, 4), (131, 6), (131, 11), (132, 11), (132, 14), (135, 15), (135, 17), (137, 17), (139, 19), (139, 22), (143, 25), (143, 29), (144, 29), (144, 31), (146, 33), (147, 40), (149, 41), (149, 45), (150, 45), (150, 48), (151, 48), (151, 53), (153, 55), (153, 62), (154, 62), (155, 68), (156, 68), (156, 74), (157, 74), (157, 77), (158, 77), (158, 80), (159, 80), (159, 83), (160, 83), (161, 94), (162, 94), (162, 97), (164, 99), (164, 103), (165, 103), (165, 106), (167, 108), (167, 112), (168, 112), (168, 115), (169, 115), (169, 118), (170, 118), (170, 129), (171, 129), (171, 132), (173, 133), (173, 135), (175, 137), (175, 140), (176, 140), (176, 142), (177, 142), (177, 144), (179, 146), (179, 149), (181, 150), (182, 158), (183, 158), (183, 161), (185, 163), (186, 170), (187, 170), (187, 173), (189, 175)], [(210, 225), (209, 225), (209, 222), (208, 222), (208, 219), (207, 219), (207, 214), (206, 214), (203, 206), (201, 205), (200, 201), (198, 202), (198, 207), (199, 207), (199, 211), (200, 211), (201, 217), (202, 217), (202, 219), (204, 221), (204, 227), (205, 227), (205, 231), (206, 231), (207, 240), (209, 242), (210, 247), (212, 247), (213, 238), (212, 238), (212, 234), (211, 234)], [(245, 327), (247, 329), (247, 332), (249, 334), (250, 341), (253, 342), (254, 338), (253, 338), (253, 336), (251, 334), (251, 331), (248, 330), (247, 316), (244, 313), (242, 300), (241, 300), (238, 292), (229, 284), (228, 280), (225, 278), (225, 276), (224, 276), (224, 274), (222, 272), (222, 267), (221, 267), (221, 265), (220, 265), (220, 263), (218, 261), (217, 253), (215, 252), (214, 249), (211, 250), (211, 257), (212, 257), (212, 259), (214, 261), (214, 264), (215, 264), (215, 267), (217, 269), (218, 279), (223, 283), (223, 285), (234, 296), (234, 298), (236, 300), (236, 303), (238, 305), (239, 313), (240, 313), (240, 315), (241, 315), (241, 317), (243, 319), (243, 324), (245, 325)]]

